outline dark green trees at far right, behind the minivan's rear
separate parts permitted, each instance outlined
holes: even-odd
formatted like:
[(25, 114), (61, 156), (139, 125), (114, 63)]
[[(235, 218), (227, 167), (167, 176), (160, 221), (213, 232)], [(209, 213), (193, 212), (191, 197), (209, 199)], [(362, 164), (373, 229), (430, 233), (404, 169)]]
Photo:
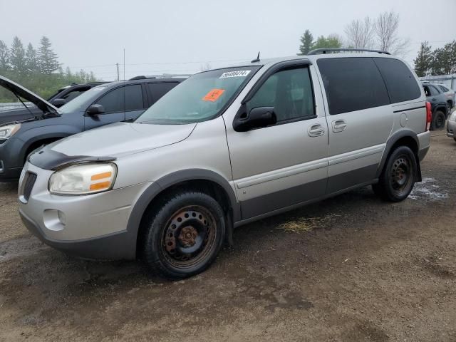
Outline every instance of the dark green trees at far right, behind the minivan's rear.
[(414, 62), (415, 72), (420, 77), (456, 73), (456, 40), (434, 51), (431, 51), (427, 41), (424, 41)]

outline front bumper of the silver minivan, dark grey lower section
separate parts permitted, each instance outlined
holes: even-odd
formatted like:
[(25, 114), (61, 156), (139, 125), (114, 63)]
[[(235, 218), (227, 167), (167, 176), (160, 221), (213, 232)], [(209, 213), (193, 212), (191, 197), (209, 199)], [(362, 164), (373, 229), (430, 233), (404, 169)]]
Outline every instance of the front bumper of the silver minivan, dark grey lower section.
[[(28, 199), (24, 175), (36, 174)], [(27, 229), (51, 247), (84, 259), (135, 259), (136, 232), (127, 229), (136, 200), (150, 182), (94, 195), (58, 196), (48, 192), (53, 171), (30, 163), (19, 184), (19, 213)]]

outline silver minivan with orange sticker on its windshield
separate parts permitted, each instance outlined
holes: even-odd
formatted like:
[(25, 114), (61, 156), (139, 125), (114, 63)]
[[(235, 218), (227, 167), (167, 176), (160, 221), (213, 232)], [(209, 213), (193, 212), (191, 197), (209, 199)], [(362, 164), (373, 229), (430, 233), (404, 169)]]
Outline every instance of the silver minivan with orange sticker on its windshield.
[(383, 51), (257, 59), (191, 76), (134, 123), (36, 150), (19, 211), (63, 252), (181, 279), (242, 224), (366, 185), (407, 198), (430, 118), (413, 70)]

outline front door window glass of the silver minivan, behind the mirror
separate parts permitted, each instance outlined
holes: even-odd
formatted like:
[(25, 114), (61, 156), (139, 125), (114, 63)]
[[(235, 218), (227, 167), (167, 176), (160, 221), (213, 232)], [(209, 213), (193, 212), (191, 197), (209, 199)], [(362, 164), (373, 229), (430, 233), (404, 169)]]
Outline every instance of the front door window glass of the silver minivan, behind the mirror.
[(278, 122), (313, 116), (314, 94), (309, 68), (274, 73), (247, 103), (248, 111), (257, 107), (274, 107)]

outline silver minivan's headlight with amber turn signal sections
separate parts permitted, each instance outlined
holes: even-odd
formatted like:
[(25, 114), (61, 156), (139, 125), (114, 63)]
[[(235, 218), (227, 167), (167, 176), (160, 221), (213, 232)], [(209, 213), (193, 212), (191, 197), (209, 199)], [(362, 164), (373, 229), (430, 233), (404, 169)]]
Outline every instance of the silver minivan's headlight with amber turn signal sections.
[(88, 195), (113, 188), (117, 167), (111, 162), (79, 164), (56, 171), (49, 180), (54, 195)]

